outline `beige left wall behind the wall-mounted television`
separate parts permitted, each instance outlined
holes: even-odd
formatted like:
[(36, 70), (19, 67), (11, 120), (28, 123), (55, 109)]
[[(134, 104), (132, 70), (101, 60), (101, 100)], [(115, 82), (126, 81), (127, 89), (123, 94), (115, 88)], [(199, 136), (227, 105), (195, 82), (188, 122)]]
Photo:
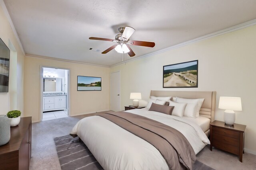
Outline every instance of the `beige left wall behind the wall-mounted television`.
[[(17, 53), (17, 59), (14, 62), (11, 60), (10, 63), (10, 80), (9, 80), (9, 92), (8, 93), (0, 93), (0, 114), (6, 114), (11, 109), (18, 109), (22, 112), (22, 116), (24, 116), (23, 112), (23, 74), (24, 74), (24, 54), (22, 49), (19, 46), (19, 43), (12, 31), (10, 23), (4, 14), (2, 6), (0, 6), (0, 38), (4, 41), (4, 43), (9, 47), (10, 43), (14, 46)], [(11, 47), (9, 47), (11, 49)], [(16, 55), (16, 54), (15, 54)], [(17, 80), (13, 80), (12, 77), (17, 77)], [(13, 83), (17, 83), (17, 85), (13, 85)], [(12, 93), (12, 94), (10, 94)], [(15, 102), (15, 105), (11, 105), (12, 102)]]

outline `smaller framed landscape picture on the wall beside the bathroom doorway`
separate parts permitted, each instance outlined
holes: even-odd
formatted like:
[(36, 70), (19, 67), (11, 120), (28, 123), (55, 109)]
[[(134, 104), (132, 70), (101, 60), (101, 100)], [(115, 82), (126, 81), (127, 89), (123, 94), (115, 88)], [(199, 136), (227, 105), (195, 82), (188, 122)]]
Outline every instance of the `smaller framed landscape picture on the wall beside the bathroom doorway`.
[(77, 91), (101, 91), (101, 77), (77, 76)]

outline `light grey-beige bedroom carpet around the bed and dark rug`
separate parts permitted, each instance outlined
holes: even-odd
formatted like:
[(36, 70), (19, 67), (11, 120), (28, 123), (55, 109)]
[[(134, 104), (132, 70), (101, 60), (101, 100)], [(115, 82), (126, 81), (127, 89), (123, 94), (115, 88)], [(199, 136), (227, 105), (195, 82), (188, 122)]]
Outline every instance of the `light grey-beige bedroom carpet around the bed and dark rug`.
[[(32, 123), (30, 170), (61, 170), (54, 138), (68, 135), (80, 119), (96, 114)], [(243, 162), (240, 162), (238, 156), (219, 149), (210, 151), (210, 146), (207, 145), (196, 157), (200, 162), (216, 170), (256, 170), (256, 155), (246, 152), (243, 155)]]

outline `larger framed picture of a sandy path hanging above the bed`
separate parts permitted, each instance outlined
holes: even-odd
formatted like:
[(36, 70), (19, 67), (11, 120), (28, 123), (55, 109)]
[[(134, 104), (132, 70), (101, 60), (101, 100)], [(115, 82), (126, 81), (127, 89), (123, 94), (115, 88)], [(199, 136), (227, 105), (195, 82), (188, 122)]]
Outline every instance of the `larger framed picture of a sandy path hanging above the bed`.
[(163, 88), (198, 87), (198, 60), (163, 66)]

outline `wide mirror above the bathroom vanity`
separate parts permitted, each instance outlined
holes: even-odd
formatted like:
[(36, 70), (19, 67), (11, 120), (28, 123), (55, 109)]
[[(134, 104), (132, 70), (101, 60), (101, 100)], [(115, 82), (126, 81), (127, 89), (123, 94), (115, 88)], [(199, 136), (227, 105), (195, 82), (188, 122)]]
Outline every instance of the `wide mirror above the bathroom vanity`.
[(44, 77), (43, 91), (44, 92), (64, 92), (65, 78)]

